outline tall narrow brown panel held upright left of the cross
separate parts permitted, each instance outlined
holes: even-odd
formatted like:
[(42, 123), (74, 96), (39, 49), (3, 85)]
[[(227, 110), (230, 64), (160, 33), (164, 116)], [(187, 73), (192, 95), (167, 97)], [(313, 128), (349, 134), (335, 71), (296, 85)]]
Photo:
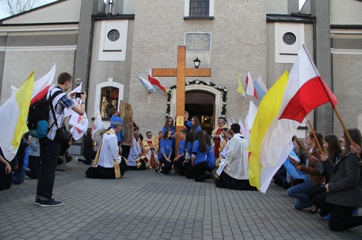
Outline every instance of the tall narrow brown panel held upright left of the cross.
[(123, 132), (125, 133), (125, 145), (133, 144), (133, 112), (132, 105), (120, 101), (120, 118), (123, 120)]

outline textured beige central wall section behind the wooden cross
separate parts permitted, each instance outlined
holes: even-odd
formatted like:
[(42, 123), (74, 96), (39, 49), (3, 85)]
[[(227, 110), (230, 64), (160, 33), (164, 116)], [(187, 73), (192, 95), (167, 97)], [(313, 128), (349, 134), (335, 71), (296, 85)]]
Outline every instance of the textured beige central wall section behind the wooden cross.
[[(159, 12), (144, 17), (144, 12)], [(184, 45), (184, 34), (212, 33), (210, 52), (187, 51), (187, 67), (198, 56), (201, 67), (210, 67), (210, 78), (198, 78), (228, 89), (226, 118), (244, 119), (249, 100), (236, 92), (238, 72), (244, 80), (247, 71), (255, 78), (266, 77), (265, 1), (215, 1), (214, 20), (184, 20), (184, 1), (136, 1), (132, 72), (129, 103), (134, 109), (134, 121), (141, 132), (158, 132), (164, 125), (167, 94), (157, 89), (148, 94), (136, 73), (147, 76), (148, 68), (175, 68), (177, 46)], [(201, 55), (201, 57), (200, 57)], [(176, 84), (175, 78), (160, 78), (167, 87)], [(196, 80), (196, 78), (187, 78)], [(251, 98), (248, 98), (251, 99)], [(258, 101), (255, 101), (258, 105)], [(215, 114), (219, 117), (220, 113)]]

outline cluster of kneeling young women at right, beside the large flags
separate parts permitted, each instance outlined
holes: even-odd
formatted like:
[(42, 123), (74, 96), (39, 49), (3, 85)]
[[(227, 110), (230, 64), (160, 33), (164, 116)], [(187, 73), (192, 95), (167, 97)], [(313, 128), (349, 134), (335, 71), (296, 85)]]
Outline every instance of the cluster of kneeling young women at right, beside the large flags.
[[(362, 207), (360, 130), (349, 128), (342, 132), (340, 139), (336, 135), (323, 137), (319, 132), (308, 132), (305, 145), (296, 137), (293, 142), (300, 159), (288, 157), (274, 175), (274, 182), (280, 185), (283, 175), (283, 181), (290, 180), (290, 185), (283, 184), (283, 187), (288, 189), (288, 196), (295, 198), (294, 208), (308, 209), (306, 212), (310, 214), (320, 211), (321, 218), (329, 221), (331, 230), (362, 225), (362, 216), (359, 216), (359, 207)], [(304, 150), (300, 151), (302, 148)], [(305, 162), (304, 155), (307, 156)], [(283, 168), (287, 170), (284, 173)]]

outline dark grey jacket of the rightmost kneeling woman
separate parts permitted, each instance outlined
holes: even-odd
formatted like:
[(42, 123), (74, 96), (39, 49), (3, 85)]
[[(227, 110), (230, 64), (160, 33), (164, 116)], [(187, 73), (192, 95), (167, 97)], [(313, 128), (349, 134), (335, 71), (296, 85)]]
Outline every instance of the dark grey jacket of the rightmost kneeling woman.
[(346, 207), (362, 207), (361, 159), (347, 153), (333, 166), (331, 160), (323, 162), (329, 179), (326, 202)]

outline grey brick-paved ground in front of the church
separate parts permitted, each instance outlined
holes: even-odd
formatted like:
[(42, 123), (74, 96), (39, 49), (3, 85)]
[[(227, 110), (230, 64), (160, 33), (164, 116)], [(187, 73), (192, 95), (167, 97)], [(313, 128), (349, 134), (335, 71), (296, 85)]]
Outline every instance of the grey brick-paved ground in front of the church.
[(56, 171), (60, 207), (34, 205), (37, 180), (0, 191), (0, 239), (362, 239), (362, 227), (332, 232), (319, 214), (294, 210), (274, 183), (262, 194), (152, 170), (88, 179), (87, 168)]

